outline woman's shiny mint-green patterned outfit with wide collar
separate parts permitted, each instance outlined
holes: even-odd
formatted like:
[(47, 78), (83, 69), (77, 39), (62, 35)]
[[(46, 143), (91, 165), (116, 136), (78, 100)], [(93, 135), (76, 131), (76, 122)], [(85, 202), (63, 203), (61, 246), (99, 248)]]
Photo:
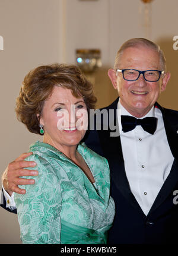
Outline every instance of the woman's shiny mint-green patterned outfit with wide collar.
[[(93, 173), (92, 184), (80, 167), (46, 143), (30, 146), (39, 170), (34, 185), (21, 185), (15, 194), (23, 244), (106, 244), (115, 204), (110, 197), (107, 160), (85, 144), (78, 152)], [(27, 178), (27, 177), (26, 177)]]

